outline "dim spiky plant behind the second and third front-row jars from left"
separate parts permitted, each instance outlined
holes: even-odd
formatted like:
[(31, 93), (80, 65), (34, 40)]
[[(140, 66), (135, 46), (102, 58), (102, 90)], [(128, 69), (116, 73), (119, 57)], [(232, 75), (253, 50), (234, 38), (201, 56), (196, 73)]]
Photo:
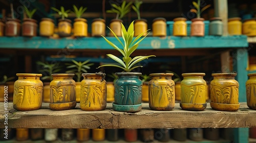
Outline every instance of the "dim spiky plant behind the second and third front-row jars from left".
[(66, 63), (67, 68), (71, 68), (70, 70), (66, 71), (66, 73), (74, 73), (77, 78), (77, 82), (81, 81), (82, 73), (88, 73), (87, 69), (91, 69), (91, 65), (94, 63), (88, 63), (90, 61), (86, 60), (84, 62), (77, 62), (75, 60), (71, 60), (73, 63)]

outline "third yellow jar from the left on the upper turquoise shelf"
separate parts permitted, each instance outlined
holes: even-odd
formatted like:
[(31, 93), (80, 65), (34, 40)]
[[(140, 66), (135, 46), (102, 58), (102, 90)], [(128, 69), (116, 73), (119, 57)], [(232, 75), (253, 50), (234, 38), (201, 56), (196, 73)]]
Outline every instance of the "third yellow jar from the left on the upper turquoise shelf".
[(87, 19), (75, 18), (74, 19), (74, 36), (87, 37), (88, 36), (88, 24)]

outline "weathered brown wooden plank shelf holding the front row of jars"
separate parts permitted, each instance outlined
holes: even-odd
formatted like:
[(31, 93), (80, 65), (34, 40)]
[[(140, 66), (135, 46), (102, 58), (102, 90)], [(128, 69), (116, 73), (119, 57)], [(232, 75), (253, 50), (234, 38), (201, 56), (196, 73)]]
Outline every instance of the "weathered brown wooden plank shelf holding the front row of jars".
[[(240, 103), (236, 112), (216, 111), (207, 105), (204, 111), (186, 111), (176, 103), (172, 111), (154, 111), (143, 103), (136, 113), (118, 112), (108, 104), (103, 111), (83, 111), (77, 104), (75, 109), (52, 111), (48, 103), (34, 111), (12, 112), (9, 103), (8, 128), (245, 128), (256, 126), (256, 111)], [(3, 103), (0, 107), (3, 107)], [(3, 108), (2, 108), (3, 110)], [(11, 113), (12, 112), (12, 113)], [(5, 117), (0, 116), (0, 128)]]

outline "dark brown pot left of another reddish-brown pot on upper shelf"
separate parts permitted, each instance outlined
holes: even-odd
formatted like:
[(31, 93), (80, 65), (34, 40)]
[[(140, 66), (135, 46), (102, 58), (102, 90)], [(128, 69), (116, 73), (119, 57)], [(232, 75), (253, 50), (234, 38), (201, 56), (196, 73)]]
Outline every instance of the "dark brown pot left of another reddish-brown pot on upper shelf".
[(5, 27), (5, 36), (20, 35), (20, 20), (16, 18), (7, 18)]

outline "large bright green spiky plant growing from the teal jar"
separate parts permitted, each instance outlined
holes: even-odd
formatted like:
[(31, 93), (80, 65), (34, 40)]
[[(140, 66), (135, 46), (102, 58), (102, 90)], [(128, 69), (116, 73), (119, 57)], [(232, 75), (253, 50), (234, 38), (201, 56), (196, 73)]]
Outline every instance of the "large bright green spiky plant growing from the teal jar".
[[(112, 43), (111, 41), (109, 41), (108, 39), (106, 39), (104, 36), (102, 36), (106, 42), (108, 42), (111, 46), (114, 47), (114, 49), (116, 49), (118, 52), (120, 52), (123, 56), (122, 59), (119, 59), (118, 57), (112, 55), (112, 54), (107, 54), (107, 56), (109, 56), (111, 59), (115, 60), (117, 63), (119, 63), (120, 65), (116, 65), (116, 64), (105, 64), (105, 65), (101, 65), (99, 67), (102, 66), (114, 66), (114, 67), (119, 67), (121, 69), (123, 69), (125, 72), (130, 72), (132, 71), (134, 68), (137, 67), (143, 67), (142, 65), (138, 65), (135, 66), (136, 63), (145, 60), (149, 57), (156, 57), (155, 55), (150, 55), (150, 56), (136, 56), (133, 59), (130, 57), (131, 54), (137, 49), (139, 43), (148, 35), (144, 36), (143, 38), (140, 39), (140, 37), (146, 33), (147, 31), (141, 33), (140, 35), (138, 35), (134, 40), (134, 21), (132, 21), (132, 23), (130, 24), (129, 28), (125, 29), (125, 27), (123, 26), (123, 23), (121, 23), (122, 26), (122, 38), (124, 43), (121, 42), (121, 40), (116, 36), (116, 34), (110, 29), (110, 31), (113, 33), (113, 35), (116, 37), (116, 39), (121, 43), (121, 45), (123, 46), (123, 49), (120, 49), (118, 46), (116, 46), (114, 43)], [(98, 68), (99, 68), (98, 67)]]

